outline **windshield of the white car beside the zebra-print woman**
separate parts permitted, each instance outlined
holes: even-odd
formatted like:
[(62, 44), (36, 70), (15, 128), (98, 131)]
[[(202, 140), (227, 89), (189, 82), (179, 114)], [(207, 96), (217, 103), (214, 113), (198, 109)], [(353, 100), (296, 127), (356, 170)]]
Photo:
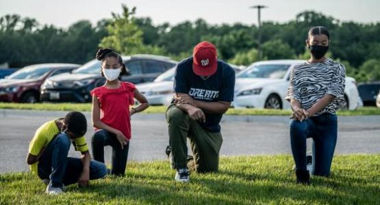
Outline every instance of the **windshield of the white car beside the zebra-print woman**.
[(238, 78), (283, 79), (290, 65), (252, 65), (238, 74)]

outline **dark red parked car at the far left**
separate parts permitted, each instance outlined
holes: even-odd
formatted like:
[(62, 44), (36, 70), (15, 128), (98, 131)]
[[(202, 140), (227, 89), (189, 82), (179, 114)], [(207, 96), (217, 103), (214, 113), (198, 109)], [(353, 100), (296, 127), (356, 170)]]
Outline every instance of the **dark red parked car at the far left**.
[(0, 101), (38, 102), (40, 86), (45, 79), (65, 72), (71, 72), (77, 64), (36, 64), (21, 68), (0, 80)]

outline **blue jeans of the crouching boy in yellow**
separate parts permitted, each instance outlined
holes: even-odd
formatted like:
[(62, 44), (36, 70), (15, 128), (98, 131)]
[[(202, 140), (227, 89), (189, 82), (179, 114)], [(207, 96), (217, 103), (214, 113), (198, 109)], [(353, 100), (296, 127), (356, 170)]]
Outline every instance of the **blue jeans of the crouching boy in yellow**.
[[(81, 159), (67, 157), (71, 140), (66, 134), (58, 134), (42, 153), (38, 162), (38, 176), (50, 179), (52, 187), (74, 184), (83, 170)], [(107, 167), (98, 161), (90, 161), (90, 180), (103, 178)]]

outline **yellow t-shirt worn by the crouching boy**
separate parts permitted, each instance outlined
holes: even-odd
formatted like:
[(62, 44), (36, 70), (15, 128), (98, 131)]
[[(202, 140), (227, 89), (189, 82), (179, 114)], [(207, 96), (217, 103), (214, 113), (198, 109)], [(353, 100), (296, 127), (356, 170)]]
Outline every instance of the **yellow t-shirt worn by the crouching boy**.
[[(41, 150), (45, 148), (45, 146), (49, 144), (49, 142), (54, 138), (54, 136), (59, 133), (60, 130), (55, 124), (55, 120), (51, 120), (49, 122), (46, 122), (45, 124), (42, 124), (42, 126), (40, 126), (40, 128), (37, 129), (33, 139), (31, 139), (31, 142), (29, 144), (29, 153), (38, 156)], [(75, 150), (79, 152), (88, 151), (86, 138), (84, 136), (74, 139), (74, 144)], [(37, 166), (38, 162), (29, 166), (31, 172), (33, 172), (34, 174), (38, 173)]]

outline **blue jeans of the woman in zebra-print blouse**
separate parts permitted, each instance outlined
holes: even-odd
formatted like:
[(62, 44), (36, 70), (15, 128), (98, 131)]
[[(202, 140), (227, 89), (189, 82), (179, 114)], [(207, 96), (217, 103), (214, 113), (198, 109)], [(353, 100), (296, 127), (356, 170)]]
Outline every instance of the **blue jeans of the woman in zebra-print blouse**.
[(303, 122), (290, 121), (290, 145), (296, 169), (306, 170), (306, 139), (313, 139), (313, 168), (316, 176), (329, 176), (338, 137), (335, 114), (323, 113)]

